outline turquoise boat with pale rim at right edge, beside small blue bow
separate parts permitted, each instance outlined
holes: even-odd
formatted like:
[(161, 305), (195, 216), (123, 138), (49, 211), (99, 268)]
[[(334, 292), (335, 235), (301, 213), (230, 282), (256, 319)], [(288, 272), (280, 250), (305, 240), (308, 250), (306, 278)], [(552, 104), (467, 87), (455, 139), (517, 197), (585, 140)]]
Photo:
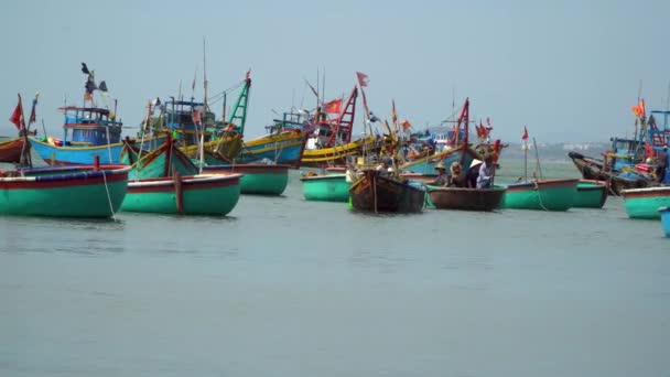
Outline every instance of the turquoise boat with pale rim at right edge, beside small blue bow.
[(630, 218), (659, 218), (660, 207), (670, 207), (670, 186), (622, 191), (624, 207)]

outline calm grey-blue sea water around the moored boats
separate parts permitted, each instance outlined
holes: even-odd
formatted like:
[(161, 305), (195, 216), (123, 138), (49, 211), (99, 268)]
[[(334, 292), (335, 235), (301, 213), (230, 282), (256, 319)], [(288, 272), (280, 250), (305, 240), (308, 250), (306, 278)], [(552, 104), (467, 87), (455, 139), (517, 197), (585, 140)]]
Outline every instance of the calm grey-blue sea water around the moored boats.
[(0, 217), (0, 376), (670, 375), (670, 239), (620, 198), (371, 215), (298, 176), (226, 217)]

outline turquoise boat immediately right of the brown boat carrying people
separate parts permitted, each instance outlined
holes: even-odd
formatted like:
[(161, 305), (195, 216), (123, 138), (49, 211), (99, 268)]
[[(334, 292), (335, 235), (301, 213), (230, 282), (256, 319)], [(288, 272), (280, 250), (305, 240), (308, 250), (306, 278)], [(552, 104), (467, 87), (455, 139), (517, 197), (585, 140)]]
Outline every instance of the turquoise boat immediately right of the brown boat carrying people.
[(500, 208), (568, 211), (574, 205), (577, 181), (558, 179), (509, 184)]

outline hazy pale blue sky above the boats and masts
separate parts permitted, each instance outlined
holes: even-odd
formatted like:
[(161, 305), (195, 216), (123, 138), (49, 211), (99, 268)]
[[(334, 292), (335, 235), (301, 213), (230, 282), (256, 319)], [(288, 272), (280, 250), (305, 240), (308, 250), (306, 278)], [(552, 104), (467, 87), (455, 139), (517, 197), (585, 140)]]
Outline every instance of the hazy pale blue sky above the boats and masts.
[[(325, 72), (326, 100), (348, 94), (357, 71), (367, 74), (370, 109), (390, 118), (395, 99), (415, 129), (439, 125), (468, 97), (471, 119), (490, 117), (493, 136), (507, 142), (520, 142), (525, 126), (545, 143), (630, 136), (638, 96), (648, 110), (661, 109), (670, 90), (670, 1), (661, 0), (21, 0), (3, 8), (1, 136), (15, 133), (17, 94), (28, 116), (37, 91), (37, 119), (62, 136), (57, 108), (83, 104), (82, 62), (107, 83), (132, 136), (147, 103), (176, 96), (180, 83), (190, 96), (196, 76), (202, 99), (203, 40), (209, 95), (251, 69), (249, 138), (291, 106), (313, 108), (304, 80), (316, 85), (317, 72)], [(220, 104), (213, 107), (220, 114)]]

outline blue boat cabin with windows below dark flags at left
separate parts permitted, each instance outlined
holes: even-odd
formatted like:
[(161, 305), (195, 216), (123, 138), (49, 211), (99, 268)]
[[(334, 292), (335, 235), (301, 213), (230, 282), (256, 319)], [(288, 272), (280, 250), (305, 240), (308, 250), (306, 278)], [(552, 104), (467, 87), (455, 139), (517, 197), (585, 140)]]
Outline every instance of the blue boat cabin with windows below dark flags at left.
[(96, 147), (120, 142), (122, 122), (116, 121), (108, 109), (68, 106), (60, 110), (65, 115), (65, 144)]

